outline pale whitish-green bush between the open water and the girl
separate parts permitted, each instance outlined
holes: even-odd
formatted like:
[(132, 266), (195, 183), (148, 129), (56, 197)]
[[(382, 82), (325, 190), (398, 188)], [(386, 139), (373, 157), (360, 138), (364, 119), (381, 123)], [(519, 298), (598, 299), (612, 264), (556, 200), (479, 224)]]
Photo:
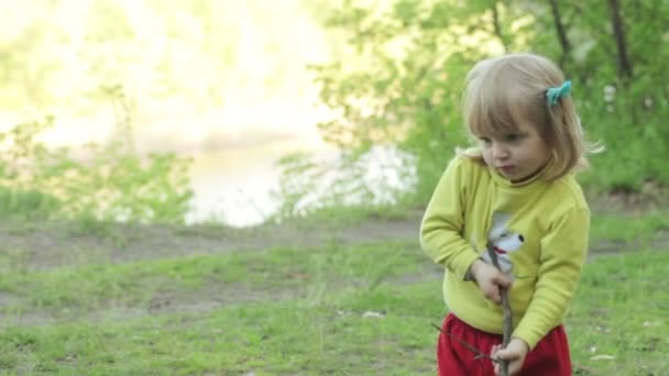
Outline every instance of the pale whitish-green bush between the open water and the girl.
[(350, 208), (357, 208), (358, 215), (361, 209), (393, 215), (393, 206), (404, 199), (406, 187), (415, 184), (410, 159), (406, 153), (381, 147), (363, 155), (343, 153), (327, 164), (308, 154), (285, 156), (278, 163), (283, 175), (274, 191), (279, 210), (272, 220), (304, 215), (351, 220), (355, 214)]

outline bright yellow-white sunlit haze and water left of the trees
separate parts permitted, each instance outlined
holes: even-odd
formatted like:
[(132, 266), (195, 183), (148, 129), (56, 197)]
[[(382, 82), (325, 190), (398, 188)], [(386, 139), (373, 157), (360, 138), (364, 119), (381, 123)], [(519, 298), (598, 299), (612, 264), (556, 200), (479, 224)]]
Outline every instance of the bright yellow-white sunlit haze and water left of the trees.
[(331, 49), (297, 0), (2, 1), (0, 13), (4, 129), (53, 114), (41, 139), (76, 152), (127, 115), (141, 153), (194, 158), (189, 222), (257, 223), (276, 209), (279, 157), (331, 154), (307, 70)]

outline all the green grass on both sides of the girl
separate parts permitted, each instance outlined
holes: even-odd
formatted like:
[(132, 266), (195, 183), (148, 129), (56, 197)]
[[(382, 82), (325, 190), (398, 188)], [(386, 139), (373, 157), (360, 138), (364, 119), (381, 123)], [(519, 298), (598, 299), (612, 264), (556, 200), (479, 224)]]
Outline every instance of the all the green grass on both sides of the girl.
[[(2, 257), (0, 374), (434, 375), (446, 312), (415, 240), (47, 272)], [(591, 259), (567, 318), (578, 369), (669, 373), (667, 265), (669, 244)]]

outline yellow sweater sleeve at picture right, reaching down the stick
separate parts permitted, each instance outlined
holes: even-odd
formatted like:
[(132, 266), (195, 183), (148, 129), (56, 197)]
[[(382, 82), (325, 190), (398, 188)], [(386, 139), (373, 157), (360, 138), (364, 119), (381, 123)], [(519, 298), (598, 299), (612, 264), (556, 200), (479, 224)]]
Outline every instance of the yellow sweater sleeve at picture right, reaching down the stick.
[(562, 322), (585, 262), (589, 231), (590, 211), (573, 208), (560, 215), (541, 239), (535, 292), (512, 334), (527, 342), (530, 349)]

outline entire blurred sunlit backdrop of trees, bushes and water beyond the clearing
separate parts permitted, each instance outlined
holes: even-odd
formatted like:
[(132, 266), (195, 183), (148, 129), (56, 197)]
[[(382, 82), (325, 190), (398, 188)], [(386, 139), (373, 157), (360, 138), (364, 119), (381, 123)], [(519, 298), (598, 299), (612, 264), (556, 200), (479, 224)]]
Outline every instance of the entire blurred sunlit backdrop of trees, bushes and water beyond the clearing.
[(579, 19), (584, 8), (2, 1), (0, 203), (31, 218), (234, 226), (323, 207), (420, 208), (468, 142), (467, 71), (520, 51), (562, 67), (585, 131), (606, 145), (585, 189), (655, 189), (669, 180), (666, 48), (654, 49), (669, 41), (665, 13), (592, 1)]

